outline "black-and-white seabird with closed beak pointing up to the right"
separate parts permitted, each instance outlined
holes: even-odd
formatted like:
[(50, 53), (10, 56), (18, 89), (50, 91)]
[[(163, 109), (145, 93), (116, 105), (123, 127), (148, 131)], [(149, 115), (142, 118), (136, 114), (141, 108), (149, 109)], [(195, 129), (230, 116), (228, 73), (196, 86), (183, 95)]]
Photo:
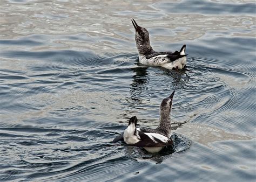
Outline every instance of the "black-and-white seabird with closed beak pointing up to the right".
[(137, 128), (137, 117), (130, 118), (128, 127), (124, 133), (113, 139), (112, 143), (124, 141), (128, 145), (142, 146), (146, 151), (154, 153), (161, 151), (164, 146), (172, 145), (173, 141), (170, 138), (172, 99), (175, 91), (161, 101), (159, 110), (160, 118), (159, 125), (156, 129)]

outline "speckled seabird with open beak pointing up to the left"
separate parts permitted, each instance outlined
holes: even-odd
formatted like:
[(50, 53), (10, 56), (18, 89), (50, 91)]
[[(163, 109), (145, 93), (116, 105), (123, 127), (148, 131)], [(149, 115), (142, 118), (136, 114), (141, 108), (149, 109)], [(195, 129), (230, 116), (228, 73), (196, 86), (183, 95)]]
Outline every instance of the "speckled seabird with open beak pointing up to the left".
[(136, 30), (135, 41), (141, 64), (162, 66), (167, 69), (185, 69), (186, 45), (183, 45), (179, 52), (156, 52), (150, 45), (149, 32), (144, 27), (139, 26), (134, 19), (132, 19), (132, 24)]

